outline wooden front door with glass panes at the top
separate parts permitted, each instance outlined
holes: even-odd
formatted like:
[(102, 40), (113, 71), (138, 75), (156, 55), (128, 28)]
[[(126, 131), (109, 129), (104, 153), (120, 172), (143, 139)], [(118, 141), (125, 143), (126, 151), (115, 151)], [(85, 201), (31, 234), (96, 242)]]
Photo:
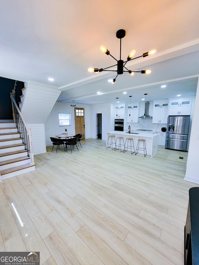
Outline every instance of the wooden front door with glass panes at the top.
[(84, 108), (74, 108), (75, 111), (75, 134), (81, 133), (81, 139), (85, 139)]

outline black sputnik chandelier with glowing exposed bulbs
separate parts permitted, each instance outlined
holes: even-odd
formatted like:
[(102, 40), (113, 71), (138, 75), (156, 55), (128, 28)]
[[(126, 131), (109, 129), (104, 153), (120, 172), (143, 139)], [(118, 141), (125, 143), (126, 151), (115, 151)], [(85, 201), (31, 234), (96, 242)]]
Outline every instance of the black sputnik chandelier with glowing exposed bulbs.
[[(150, 50), (149, 52), (147, 53), (143, 53), (143, 55), (141, 56), (138, 56), (136, 58), (132, 58), (136, 51), (134, 49), (132, 49), (127, 57), (127, 61), (123, 61), (121, 60), (121, 42), (122, 42), (122, 38), (124, 38), (124, 36), (126, 35), (126, 31), (125, 30), (118, 30), (116, 32), (116, 37), (118, 39), (120, 39), (120, 59), (117, 60), (115, 59), (109, 52), (109, 50), (107, 50), (107, 48), (105, 48), (104, 46), (101, 46), (100, 47), (100, 51), (103, 52), (103, 53), (106, 53), (107, 55), (110, 55), (114, 60), (117, 61), (117, 64), (115, 65), (112, 65), (112, 66), (109, 66), (109, 67), (106, 67), (106, 68), (91, 68), (89, 67), (88, 68), (88, 71), (89, 72), (95, 72), (95, 73), (99, 73), (99, 72), (102, 72), (102, 71), (113, 71), (113, 72), (117, 72), (117, 75), (116, 77), (113, 79), (113, 81), (111, 82), (111, 84), (114, 84), (116, 78), (118, 75), (122, 75), (123, 72), (128, 72), (130, 75), (134, 75), (135, 72), (137, 73), (141, 73), (141, 74), (150, 74), (151, 71), (150, 70), (141, 70), (141, 71), (131, 71), (131, 70), (128, 70), (127, 67), (125, 66), (127, 62), (131, 61), (131, 60), (135, 60), (137, 58), (140, 58), (140, 57), (146, 57), (146, 56), (149, 56), (149, 55), (153, 55), (156, 53), (156, 49), (153, 49), (153, 50)], [(113, 66), (117, 66), (117, 70), (107, 70), (108, 68), (111, 68)], [(126, 69), (126, 70), (124, 70)]]

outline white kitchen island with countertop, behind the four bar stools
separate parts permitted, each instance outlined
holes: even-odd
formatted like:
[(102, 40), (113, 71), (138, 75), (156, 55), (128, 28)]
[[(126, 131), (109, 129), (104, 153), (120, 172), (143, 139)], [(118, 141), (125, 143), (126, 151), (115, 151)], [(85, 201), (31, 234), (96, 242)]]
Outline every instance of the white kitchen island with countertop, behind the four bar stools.
[[(146, 143), (146, 154), (150, 155), (150, 157), (154, 157), (158, 153), (158, 135), (157, 134), (150, 134), (150, 133), (127, 133), (127, 132), (121, 132), (121, 131), (111, 131), (106, 133), (106, 145), (109, 138), (109, 135), (114, 135), (115, 140), (118, 136), (122, 136), (124, 139), (124, 144), (126, 141), (126, 138), (131, 137), (133, 138), (134, 147), (136, 150), (138, 139), (145, 139)], [(141, 147), (141, 144), (140, 144)], [(128, 148), (128, 151), (130, 149)], [(138, 150), (138, 153), (144, 153), (141, 150)]]

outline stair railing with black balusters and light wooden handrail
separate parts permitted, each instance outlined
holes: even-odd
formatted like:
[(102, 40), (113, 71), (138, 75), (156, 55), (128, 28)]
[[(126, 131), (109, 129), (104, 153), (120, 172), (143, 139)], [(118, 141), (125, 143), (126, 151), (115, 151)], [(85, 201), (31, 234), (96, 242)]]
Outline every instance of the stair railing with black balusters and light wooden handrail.
[(12, 101), (13, 120), (16, 123), (17, 132), (20, 134), (22, 143), (25, 145), (25, 150), (27, 150), (27, 156), (30, 157), (30, 165), (35, 165), (32, 150), (31, 130), (27, 127), (24, 118), (21, 115), (21, 111), (19, 110), (13, 95), (13, 90), (10, 93), (10, 98)]

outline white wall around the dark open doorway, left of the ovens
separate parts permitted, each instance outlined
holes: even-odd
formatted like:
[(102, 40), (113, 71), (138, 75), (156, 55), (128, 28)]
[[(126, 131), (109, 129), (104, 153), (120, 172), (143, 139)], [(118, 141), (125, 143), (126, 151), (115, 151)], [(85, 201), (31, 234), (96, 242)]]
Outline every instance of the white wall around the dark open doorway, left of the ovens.
[(114, 104), (97, 104), (91, 106), (90, 137), (97, 138), (96, 114), (102, 113), (102, 140), (106, 140), (106, 132), (114, 130)]

